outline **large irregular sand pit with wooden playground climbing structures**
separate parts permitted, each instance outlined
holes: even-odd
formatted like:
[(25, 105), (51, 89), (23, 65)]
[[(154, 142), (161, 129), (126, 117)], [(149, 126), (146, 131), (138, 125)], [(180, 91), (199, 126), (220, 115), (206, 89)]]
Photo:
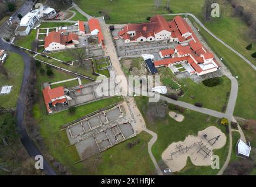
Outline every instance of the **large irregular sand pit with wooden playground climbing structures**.
[(220, 129), (210, 126), (198, 131), (197, 137), (190, 135), (184, 141), (170, 144), (161, 158), (172, 172), (183, 169), (187, 164), (187, 157), (190, 157), (194, 165), (211, 165), (212, 150), (225, 146), (226, 140), (227, 137)]

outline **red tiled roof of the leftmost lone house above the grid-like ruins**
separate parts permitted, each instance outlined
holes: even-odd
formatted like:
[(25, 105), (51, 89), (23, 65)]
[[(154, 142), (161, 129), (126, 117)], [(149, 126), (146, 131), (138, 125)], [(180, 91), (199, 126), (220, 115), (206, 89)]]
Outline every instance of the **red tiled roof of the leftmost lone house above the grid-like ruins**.
[(45, 104), (48, 104), (52, 102), (52, 99), (59, 98), (60, 96), (64, 95), (64, 87), (59, 86), (56, 88), (50, 88), (50, 86), (47, 86), (45, 89), (43, 89), (43, 98), (45, 99)]

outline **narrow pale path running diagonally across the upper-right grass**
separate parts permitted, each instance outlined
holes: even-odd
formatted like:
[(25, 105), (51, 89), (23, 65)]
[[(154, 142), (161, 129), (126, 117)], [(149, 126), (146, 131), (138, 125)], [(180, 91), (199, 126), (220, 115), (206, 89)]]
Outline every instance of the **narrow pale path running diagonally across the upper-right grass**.
[(240, 58), (242, 58), (242, 60), (244, 60), (247, 64), (251, 65), (251, 67), (254, 70), (256, 70), (256, 66), (254, 64), (252, 64), (250, 60), (248, 60), (247, 58), (242, 56), (242, 54), (239, 53), (238, 51), (236, 51), (233, 47), (228, 46), (227, 43), (225, 43), (223, 40), (221, 40), (217, 36), (215, 36), (215, 34), (213, 34), (209, 29), (207, 29), (207, 27), (204, 26), (203, 23), (196, 16), (194, 16), (192, 13), (170, 13), (170, 14), (164, 14), (164, 15), (166, 15), (166, 16), (177, 16), (177, 15), (188, 15), (188, 16), (191, 16), (198, 23), (198, 25), (200, 25), (201, 27), (203, 27), (204, 30), (206, 30), (207, 33), (209, 33), (211, 36), (213, 36), (216, 40), (220, 41), (220, 43), (222, 43), (225, 47), (227, 47), (228, 49), (233, 51)]

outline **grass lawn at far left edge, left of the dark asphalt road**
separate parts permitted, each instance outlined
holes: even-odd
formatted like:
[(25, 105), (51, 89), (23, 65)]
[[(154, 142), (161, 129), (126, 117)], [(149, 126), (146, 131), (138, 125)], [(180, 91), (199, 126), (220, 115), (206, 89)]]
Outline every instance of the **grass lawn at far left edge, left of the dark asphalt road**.
[(0, 95), (0, 105), (5, 108), (16, 108), (24, 69), (22, 56), (19, 56), (19, 54), (16, 53), (9, 53), (9, 57), (5, 61), (4, 67), (8, 72), (9, 79), (0, 74), (0, 86), (13, 85), (13, 87), (10, 94)]

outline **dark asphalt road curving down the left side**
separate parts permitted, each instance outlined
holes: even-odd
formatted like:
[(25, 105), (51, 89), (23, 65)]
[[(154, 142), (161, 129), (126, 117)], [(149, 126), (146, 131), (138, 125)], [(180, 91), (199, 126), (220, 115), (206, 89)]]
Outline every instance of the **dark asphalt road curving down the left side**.
[[(31, 57), (16, 47), (11, 46), (9, 43), (5, 43), (2, 39), (0, 39), (0, 48), (4, 50), (13, 51), (23, 57), (24, 61), (24, 72), (23, 72), (23, 80), (21, 85), (21, 91), (19, 92), (19, 99), (16, 108), (16, 119), (17, 119), (17, 129), (19, 138), (23, 146), (25, 147), (26, 151), (28, 151), (29, 156), (35, 158), (36, 155), (42, 155), (41, 151), (35, 146), (33, 140), (29, 137), (28, 132), (26, 131), (26, 125), (23, 123), (24, 119), (24, 111), (25, 111), (25, 89), (26, 84), (28, 82), (29, 75), (31, 74)], [(17, 62), (21, 63), (21, 62)], [(46, 172), (47, 175), (56, 175), (55, 171), (52, 169), (48, 161), (45, 159), (43, 160), (43, 170)]]

